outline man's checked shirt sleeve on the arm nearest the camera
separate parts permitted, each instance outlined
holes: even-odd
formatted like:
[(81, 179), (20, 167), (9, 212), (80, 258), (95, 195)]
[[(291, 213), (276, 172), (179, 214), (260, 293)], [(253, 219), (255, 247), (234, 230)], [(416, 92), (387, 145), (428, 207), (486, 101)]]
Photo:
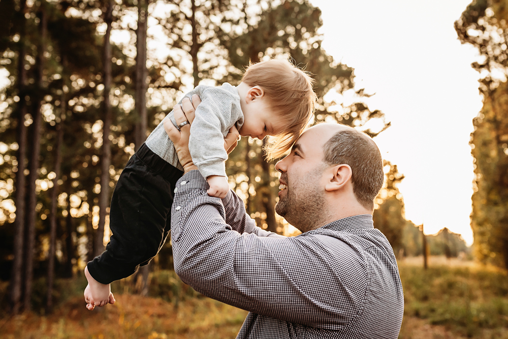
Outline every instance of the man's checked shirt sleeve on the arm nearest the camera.
[[(339, 329), (357, 315), (365, 295), (358, 282), (366, 280), (366, 268), (353, 249), (338, 252), (359, 260), (361, 269), (348, 282), (324, 241), (257, 234), (233, 193), (226, 201), (209, 197), (198, 171), (186, 173), (177, 187), (171, 236), (183, 282), (241, 309), (307, 326)], [(238, 214), (228, 217), (233, 210)]]

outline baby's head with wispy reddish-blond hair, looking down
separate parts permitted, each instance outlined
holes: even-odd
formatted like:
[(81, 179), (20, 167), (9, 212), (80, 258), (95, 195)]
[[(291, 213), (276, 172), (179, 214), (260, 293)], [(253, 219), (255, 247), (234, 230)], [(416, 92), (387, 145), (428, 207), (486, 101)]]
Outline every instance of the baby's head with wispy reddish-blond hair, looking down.
[(240, 135), (263, 139), (268, 159), (281, 157), (300, 137), (315, 109), (314, 80), (288, 60), (251, 64), (237, 87), (244, 114)]

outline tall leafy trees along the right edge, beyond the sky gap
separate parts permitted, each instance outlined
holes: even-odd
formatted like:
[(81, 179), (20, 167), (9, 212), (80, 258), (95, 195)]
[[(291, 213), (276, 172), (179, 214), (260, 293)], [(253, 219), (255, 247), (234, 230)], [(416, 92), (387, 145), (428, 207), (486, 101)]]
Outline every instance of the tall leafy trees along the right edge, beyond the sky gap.
[(508, 2), (472, 2), (455, 22), (462, 43), (477, 47), (481, 58), (472, 67), (482, 72), (484, 106), (473, 119), (474, 194), (471, 226), (475, 254), (484, 262), (508, 267)]

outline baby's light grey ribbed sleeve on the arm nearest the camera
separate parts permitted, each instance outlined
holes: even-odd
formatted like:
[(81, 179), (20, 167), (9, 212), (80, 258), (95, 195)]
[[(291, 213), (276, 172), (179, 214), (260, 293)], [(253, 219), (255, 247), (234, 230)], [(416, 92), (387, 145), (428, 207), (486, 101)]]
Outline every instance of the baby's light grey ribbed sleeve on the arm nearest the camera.
[[(234, 96), (220, 87), (206, 87), (200, 93), (201, 104), (190, 127), (189, 151), (194, 164), (206, 178), (226, 176), (224, 149), (225, 133), (234, 125), (232, 111)], [(236, 110), (235, 110), (236, 111)]]

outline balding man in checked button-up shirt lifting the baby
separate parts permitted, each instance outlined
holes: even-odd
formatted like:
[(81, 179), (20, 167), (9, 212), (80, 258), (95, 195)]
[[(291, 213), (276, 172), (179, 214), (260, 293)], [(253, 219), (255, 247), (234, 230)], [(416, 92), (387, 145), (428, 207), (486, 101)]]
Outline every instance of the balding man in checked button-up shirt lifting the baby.
[[(192, 124), (193, 105), (187, 100), (183, 108), (186, 116), (175, 109), (177, 124)], [(188, 154), (190, 128), (167, 124), (166, 131), (185, 172), (172, 208), (175, 271), (197, 291), (250, 311), (238, 338), (398, 336), (404, 301), (397, 263), (372, 225), (383, 183), (372, 139), (332, 124), (302, 134), (275, 166), (275, 209), (303, 232), (283, 237), (256, 227), (232, 191), (209, 197)]]

